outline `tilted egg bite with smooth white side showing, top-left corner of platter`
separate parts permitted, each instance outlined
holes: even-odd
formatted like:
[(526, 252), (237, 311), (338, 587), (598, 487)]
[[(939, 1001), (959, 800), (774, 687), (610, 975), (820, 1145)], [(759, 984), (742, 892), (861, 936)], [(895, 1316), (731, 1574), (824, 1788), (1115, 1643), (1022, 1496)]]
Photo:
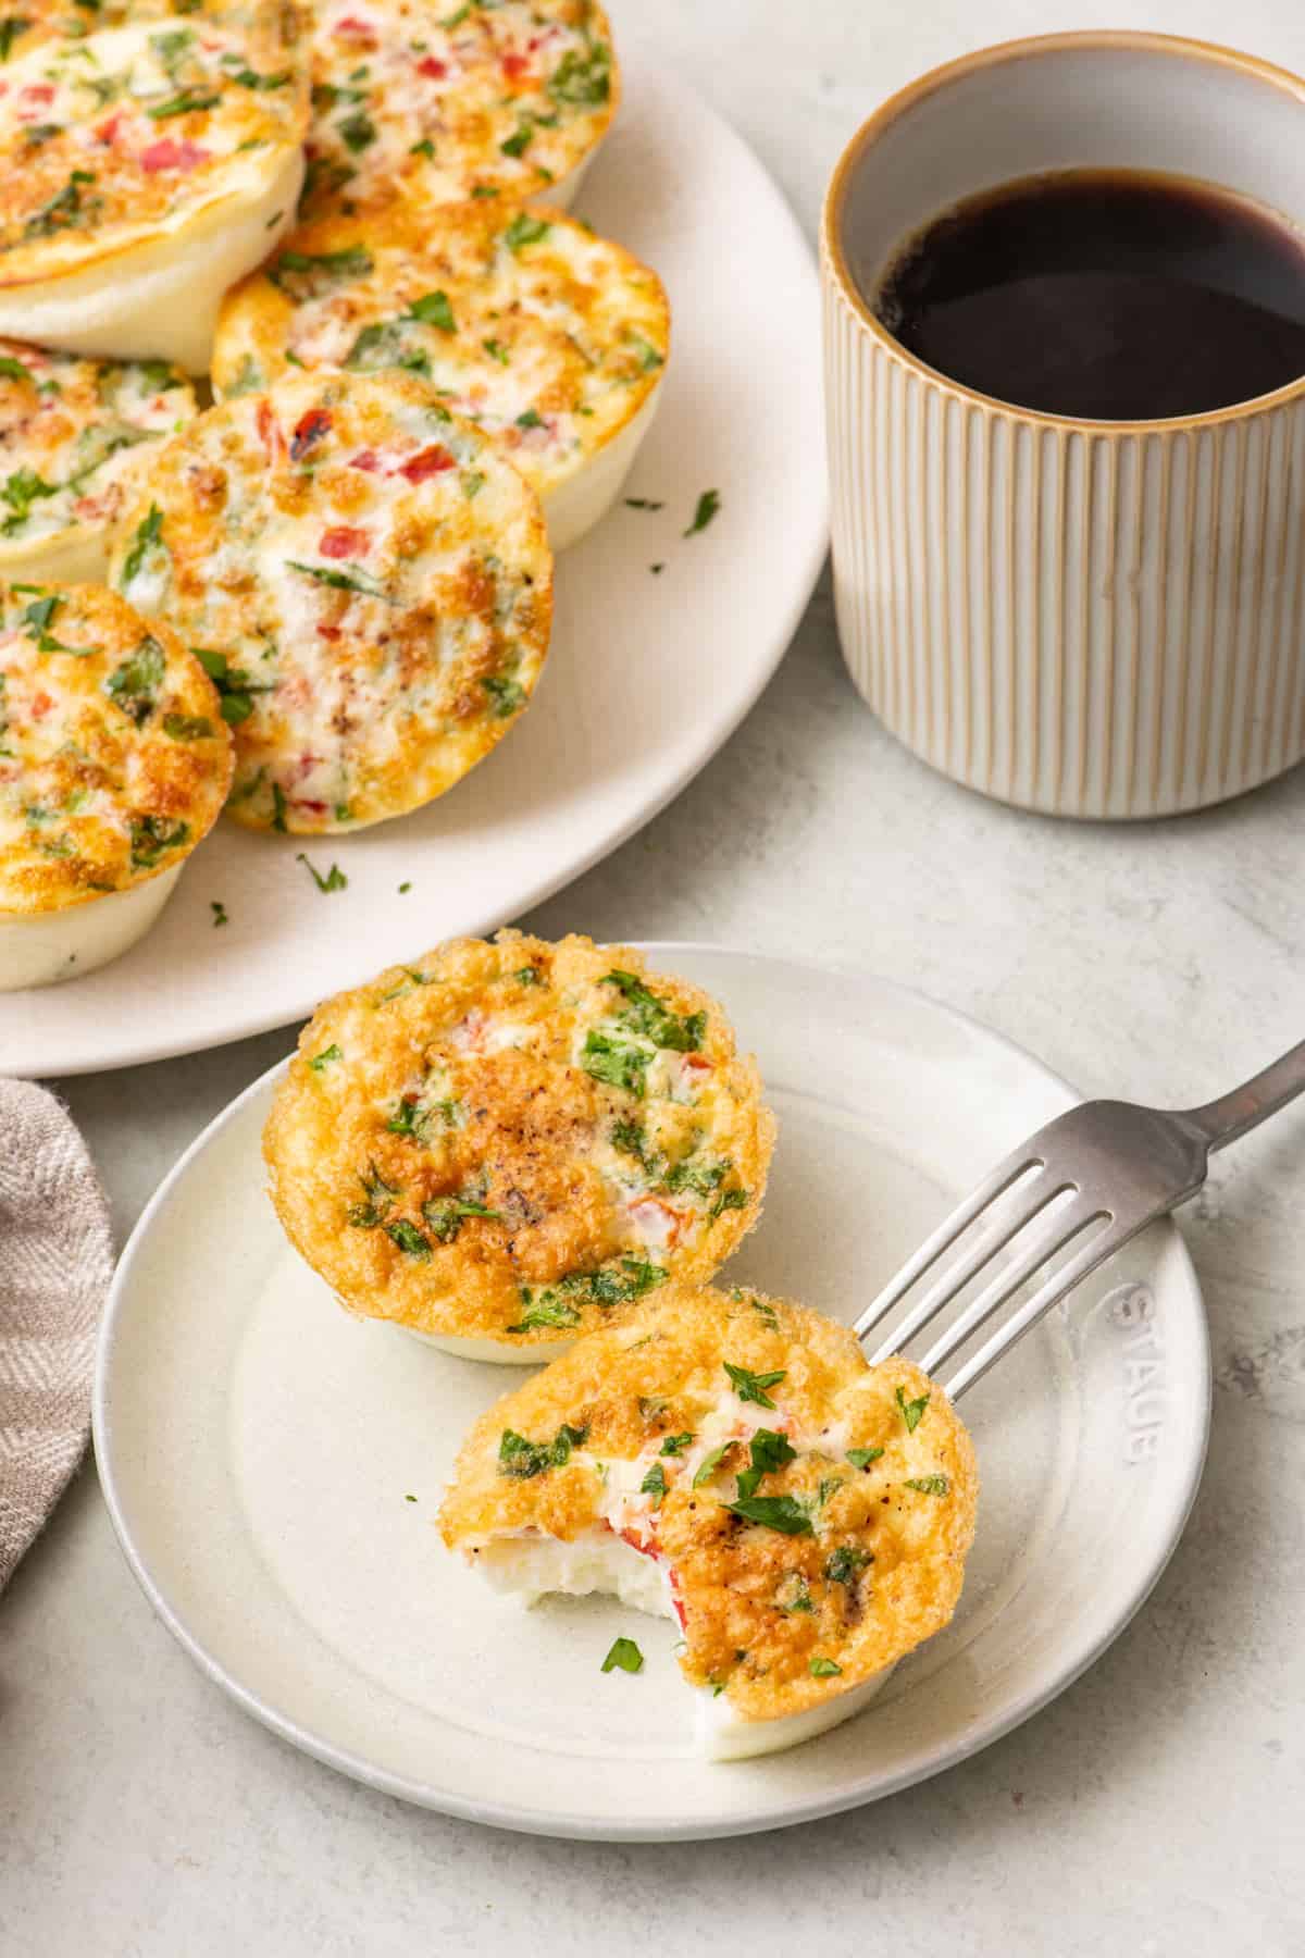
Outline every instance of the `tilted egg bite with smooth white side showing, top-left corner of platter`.
[[(288, 25), (284, 25), (288, 23)], [(295, 16), (131, 20), (0, 70), (0, 333), (207, 370), (225, 290), (292, 223)]]

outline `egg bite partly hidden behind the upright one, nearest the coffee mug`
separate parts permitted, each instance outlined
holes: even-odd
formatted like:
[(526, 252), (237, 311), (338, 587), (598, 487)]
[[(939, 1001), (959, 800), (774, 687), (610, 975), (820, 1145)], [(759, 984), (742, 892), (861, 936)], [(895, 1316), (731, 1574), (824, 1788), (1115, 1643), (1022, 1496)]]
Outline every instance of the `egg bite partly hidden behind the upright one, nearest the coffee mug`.
[(303, 225), (227, 296), (213, 390), (248, 394), (293, 368), (421, 374), (505, 448), (562, 550), (620, 491), (669, 329), (657, 274), (562, 211), (393, 204)]

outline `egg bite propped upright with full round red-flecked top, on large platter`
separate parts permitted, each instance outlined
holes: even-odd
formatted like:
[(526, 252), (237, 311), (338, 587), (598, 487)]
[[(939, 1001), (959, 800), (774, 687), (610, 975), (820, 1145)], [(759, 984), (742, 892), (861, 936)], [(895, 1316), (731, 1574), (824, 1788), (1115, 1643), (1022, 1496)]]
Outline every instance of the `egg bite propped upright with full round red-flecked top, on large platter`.
[(235, 724), (229, 813), (313, 836), (442, 795), (548, 652), (538, 497), (411, 374), (290, 372), (145, 474), (112, 582), (200, 648)]

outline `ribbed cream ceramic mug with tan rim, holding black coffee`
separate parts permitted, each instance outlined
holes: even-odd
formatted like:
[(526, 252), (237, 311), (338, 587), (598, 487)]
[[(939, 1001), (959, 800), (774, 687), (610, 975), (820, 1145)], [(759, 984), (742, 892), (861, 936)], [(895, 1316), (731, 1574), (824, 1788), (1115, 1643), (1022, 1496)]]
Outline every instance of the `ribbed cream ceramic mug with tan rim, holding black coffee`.
[(925, 74), (853, 137), (822, 225), (839, 638), (957, 781), (1172, 815), (1305, 756), (1305, 376), (1170, 421), (1029, 413), (867, 302), (951, 204), (1066, 166), (1170, 170), (1305, 227), (1305, 82), (1166, 35), (1049, 35)]

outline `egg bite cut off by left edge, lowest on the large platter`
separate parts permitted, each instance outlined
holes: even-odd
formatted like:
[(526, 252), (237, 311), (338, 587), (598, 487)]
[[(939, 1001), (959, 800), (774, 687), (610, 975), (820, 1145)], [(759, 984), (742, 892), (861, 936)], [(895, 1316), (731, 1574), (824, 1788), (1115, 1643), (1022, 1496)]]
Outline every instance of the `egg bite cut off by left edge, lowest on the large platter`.
[(170, 627), (102, 585), (0, 585), (0, 991), (135, 944), (231, 766), (217, 691)]

